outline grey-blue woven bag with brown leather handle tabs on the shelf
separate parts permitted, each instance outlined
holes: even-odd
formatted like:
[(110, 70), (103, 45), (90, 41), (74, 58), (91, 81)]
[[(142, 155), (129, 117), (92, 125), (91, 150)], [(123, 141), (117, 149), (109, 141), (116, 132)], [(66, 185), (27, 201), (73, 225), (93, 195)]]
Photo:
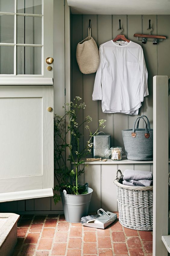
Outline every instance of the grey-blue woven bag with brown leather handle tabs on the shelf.
[[(144, 118), (147, 119), (147, 123)], [(139, 128), (140, 119), (144, 120), (144, 129)], [(137, 127), (135, 128), (136, 123)], [(127, 159), (137, 161), (153, 160), (153, 129), (150, 128), (150, 122), (145, 115), (136, 119), (133, 129), (123, 130), (122, 137)]]

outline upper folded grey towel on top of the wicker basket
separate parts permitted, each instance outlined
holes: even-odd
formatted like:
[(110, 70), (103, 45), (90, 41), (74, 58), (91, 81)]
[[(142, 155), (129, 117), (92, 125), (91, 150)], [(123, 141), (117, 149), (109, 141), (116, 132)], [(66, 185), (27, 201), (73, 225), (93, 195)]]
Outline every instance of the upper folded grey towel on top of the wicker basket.
[(151, 172), (151, 171), (134, 171), (134, 170), (127, 169), (124, 171), (123, 179), (126, 181), (152, 180), (153, 172)]

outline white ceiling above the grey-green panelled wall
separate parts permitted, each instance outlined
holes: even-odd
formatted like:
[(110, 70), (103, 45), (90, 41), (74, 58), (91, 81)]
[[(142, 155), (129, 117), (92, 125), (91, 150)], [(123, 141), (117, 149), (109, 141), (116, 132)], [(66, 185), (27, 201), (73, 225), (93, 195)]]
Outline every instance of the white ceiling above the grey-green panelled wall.
[(72, 14), (170, 14), (170, 0), (67, 0)]

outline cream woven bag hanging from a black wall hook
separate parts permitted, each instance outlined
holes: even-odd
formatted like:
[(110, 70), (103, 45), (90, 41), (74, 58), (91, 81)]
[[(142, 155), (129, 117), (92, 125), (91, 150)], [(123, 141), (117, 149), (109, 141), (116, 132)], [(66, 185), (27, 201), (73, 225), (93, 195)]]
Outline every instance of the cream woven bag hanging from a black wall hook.
[(97, 71), (99, 66), (99, 49), (91, 37), (91, 28), (88, 28), (88, 37), (78, 43), (76, 59), (81, 73), (91, 74)]

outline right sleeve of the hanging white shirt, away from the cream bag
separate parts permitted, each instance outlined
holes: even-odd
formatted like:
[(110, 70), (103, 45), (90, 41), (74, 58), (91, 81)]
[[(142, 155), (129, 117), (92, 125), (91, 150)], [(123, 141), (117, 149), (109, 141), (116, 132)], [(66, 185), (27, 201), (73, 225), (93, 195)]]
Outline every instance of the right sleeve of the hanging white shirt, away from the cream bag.
[(148, 71), (143, 55), (143, 49), (140, 48), (140, 101), (143, 101), (145, 96), (149, 95), (148, 92)]

